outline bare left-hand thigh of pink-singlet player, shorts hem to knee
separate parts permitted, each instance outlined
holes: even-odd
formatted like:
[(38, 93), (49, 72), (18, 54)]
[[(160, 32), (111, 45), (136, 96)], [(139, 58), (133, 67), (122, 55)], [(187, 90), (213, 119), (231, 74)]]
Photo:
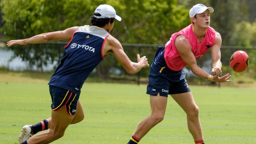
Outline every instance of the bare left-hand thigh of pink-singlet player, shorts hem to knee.
[(157, 96), (150, 95), (150, 106), (152, 113), (155, 114), (165, 114), (165, 109), (167, 105), (167, 97), (160, 96), (158, 93)]

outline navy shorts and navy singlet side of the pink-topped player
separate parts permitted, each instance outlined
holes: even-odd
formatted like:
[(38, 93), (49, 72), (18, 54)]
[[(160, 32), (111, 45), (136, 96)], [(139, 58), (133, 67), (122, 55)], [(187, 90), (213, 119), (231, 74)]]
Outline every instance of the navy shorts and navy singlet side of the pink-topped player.
[(164, 47), (159, 47), (148, 76), (147, 94), (168, 96), (168, 94), (181, 94), (190, 92), (187, 85), (186, 74), (182, 70), (174, 71), (166, 66), (163, 58)]

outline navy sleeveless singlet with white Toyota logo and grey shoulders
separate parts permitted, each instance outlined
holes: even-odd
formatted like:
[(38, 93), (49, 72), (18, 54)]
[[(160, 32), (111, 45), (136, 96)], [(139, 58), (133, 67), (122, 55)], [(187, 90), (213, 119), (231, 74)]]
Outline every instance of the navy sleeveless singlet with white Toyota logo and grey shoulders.
[(108, 31), (96, 26), (80, 26), (65, 46), (65, 53), (48, 85), (80, 94), (85, 79), (104, 59), (102, 49)]

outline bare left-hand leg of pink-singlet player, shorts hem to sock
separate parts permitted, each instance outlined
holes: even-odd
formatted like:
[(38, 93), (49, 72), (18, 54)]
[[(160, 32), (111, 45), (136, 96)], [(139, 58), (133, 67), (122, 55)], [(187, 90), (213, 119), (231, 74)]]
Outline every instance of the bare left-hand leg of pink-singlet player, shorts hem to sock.
[(134, 132), (134, 135), (137, 138), (143, 138), (152, 127), (156, 126), (156, 124), (163, 120), (166, 104), (167, 97), (160, 96), (159, 93), (157, 96), (150, 95), (151, 115), (141, 121), (137, 126), (137, 129)]

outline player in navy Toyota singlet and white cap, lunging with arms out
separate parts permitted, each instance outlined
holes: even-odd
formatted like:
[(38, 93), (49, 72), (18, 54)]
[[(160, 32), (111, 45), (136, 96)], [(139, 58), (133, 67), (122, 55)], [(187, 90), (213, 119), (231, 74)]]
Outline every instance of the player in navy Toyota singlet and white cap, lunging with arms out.
[[(113, 52), (130, 74), (149, 66), (147, 58), (140, 57), (139, 54), (137, 63), (132, 62), (124, 53), (121, 43), (109, 34), (115, 19), (121, 21), (115, 9), (104, 4), (96, 8), (91, 17), (91, 26), (74, 26), (63, 31), (42, 33), (29, 39), (7, 42), (7, 46), (12, 46), (69, 41), (61, 62), (48, 83), (52, 98), (52, 115), (38, 124), (24, 126), (19, 135), (20, 144), (48, 144), (61, 138), (69, 124), (83, 120), (83, 109), (79, 101), (82, 85), (109, 52)], [(50, 130), (34, 135), (46, 129)]]

